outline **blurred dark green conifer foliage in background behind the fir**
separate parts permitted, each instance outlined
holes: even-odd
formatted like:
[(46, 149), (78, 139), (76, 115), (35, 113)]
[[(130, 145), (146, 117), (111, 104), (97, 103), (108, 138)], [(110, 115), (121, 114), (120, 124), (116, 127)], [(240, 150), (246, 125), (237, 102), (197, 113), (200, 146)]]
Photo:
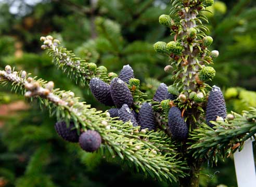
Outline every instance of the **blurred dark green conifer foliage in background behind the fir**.
[[(168, 41), (168, 30), (158, 24), (168, 14), (166, 0), (0, 0), (0, 63), (26, 69), (76, 96), (103, 105), (60, 71), (41, 49), (41, 35), (65, 38), (63, 45), (88, 62), (120, 71), (130, 64), (150, 98), (160, 82), (170, 83), (163, 71), (168, 58), (156, 54), (152, 44)], [(226, 88), (229, 110), (241, 112), (256, 106), (256, 3), (249, 0), (216, 1), (206, 13), (210, 18), (212, 49), (220, 51), (214, 68), (215, 84)], [(169, 39), (170, 40), (170, 39)], [(157, 81), (158, 80), (158, 81)], [(232, 87), (232, 88), (231, 88)], [(6, 89), (7, 90), (7, 89)], [(37, 104), (28, 106), (6, 90), (0, 93), (0, 186), (168, 186), (121, 170), (96, 153), (85, 153), (64, 143)], [(250, 90), (250, 91), (248, 91)], [(41, 115), (38, 115), (41, 114)], [(227, 166), (228, 165), (228, 166)], [(217, 168), (201, 171), (201, 186), (236, 186), (232, 159)]]

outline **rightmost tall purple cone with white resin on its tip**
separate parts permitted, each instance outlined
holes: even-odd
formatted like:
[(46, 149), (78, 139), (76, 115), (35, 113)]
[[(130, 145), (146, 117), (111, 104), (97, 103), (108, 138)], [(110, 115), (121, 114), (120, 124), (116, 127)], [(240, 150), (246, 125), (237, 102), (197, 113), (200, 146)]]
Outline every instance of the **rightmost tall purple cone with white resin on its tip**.
[(208, 97), (208, 103), (206, 108), (206, 122), (207, 125), (213, 127), (210, 121), (216, 121), (217, 116), (223, 117), (227, 116), (226, 103), (219, 87), (213, 86)]

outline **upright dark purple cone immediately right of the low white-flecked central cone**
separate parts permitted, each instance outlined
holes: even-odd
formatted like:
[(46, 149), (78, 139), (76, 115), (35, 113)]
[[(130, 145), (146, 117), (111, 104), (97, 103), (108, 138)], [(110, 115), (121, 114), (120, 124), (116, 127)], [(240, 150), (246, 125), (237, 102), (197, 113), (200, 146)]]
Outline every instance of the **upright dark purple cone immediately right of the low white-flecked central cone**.
[(149, 130), (155, 130), (155, 115), (153, 109), (149, 103), (144, 103), (138, 114), (138, 124), (141, 129), (148, 128)]

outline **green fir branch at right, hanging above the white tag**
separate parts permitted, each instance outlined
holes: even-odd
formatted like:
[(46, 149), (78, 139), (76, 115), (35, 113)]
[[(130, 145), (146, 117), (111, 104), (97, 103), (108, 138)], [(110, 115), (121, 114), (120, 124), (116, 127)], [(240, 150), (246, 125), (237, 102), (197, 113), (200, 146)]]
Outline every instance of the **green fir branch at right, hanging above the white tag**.
[(229, 122), (212, 122), (213, 128), (202, 124), (199, 129), (191, 133), (189, 152), (195, 158), (206, 158), (217, 162), (217, 156), (228, 157), (236, 150), (241, 151), (245, 141), (254, 138), (256, 133), (256, 109), (244, 111), (242, 115), (229, 114), (227, 118), (234, 118)]

